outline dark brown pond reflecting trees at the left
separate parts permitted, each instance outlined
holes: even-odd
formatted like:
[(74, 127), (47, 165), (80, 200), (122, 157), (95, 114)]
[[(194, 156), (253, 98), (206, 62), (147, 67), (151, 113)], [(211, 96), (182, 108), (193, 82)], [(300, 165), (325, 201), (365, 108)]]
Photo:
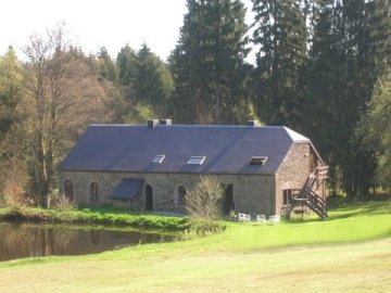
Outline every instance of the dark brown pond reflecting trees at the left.
[(0, 262), (100, 253), (173, 239), (173, 235), (101, 227), (0, 222)]

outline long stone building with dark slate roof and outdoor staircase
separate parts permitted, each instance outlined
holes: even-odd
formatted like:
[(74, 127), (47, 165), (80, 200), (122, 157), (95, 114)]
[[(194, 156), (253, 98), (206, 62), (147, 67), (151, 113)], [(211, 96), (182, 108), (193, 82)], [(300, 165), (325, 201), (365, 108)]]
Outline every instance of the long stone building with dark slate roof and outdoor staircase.
[(311, 140), (256, 122), (91, 125), (59, 170), (61, 194), (79, 204), (184, 212), (186, 192), (201, 175), (214, 175), (225, 187), (225, 214), (312, 209), (327, 217), (327, 167)]

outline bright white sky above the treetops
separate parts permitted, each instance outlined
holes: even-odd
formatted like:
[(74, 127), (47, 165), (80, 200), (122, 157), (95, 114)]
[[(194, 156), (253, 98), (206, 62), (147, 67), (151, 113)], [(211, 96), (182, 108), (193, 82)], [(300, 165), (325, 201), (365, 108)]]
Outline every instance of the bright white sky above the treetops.
[[(249, 5), (250, 0), (244, 0)], [(248, 7), (248, 23), (252, 21)], [(45, 35), (65, 22), (68, 37), (86, 53), (105, 47), (116, 58), (128, 43), (146, 42), (163, 60), (174, 50), (187, 12), (186, 0), (5, 0), (1, 3), (0, 54), (21, 48), (33, 34)]]

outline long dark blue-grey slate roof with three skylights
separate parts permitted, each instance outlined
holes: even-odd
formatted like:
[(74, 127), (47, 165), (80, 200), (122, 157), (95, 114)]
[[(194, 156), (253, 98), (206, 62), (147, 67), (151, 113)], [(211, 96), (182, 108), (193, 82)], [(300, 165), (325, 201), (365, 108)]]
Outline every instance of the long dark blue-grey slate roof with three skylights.
[[(60, 170), (275, 174), (293, 143), (306, 137), (279, 126), (91, 125), (60, 164)], [(164, 154), (162, 164), (152, 164)], [(187, 165), (205, 156), (202, 165)], [(267, 156), (250, 165), (251, 156)]]

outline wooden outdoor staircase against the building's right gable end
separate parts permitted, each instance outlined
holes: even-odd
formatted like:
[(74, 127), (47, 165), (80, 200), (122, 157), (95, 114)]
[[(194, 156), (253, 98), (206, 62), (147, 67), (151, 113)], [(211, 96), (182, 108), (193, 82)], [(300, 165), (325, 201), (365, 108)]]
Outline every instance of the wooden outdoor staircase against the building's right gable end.
[(304, 204), (323, 219), (328, 219), (327, 203), (314, 191), (313, 187), (315, 186), (315, 182), (324, 182), (324, 180), (327, 179), (327, 171), (328, 166), (315, 168), (314, 173), (312, 173), (306, 180), (304, 187), (292, 195), (294, 203)]

